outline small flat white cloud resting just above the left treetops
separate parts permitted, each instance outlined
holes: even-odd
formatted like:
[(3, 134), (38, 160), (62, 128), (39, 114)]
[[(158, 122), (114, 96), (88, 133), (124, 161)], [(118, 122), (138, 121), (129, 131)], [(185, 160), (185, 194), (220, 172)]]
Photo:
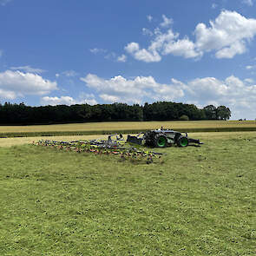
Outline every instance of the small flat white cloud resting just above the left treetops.
[[(89, 97), (92, 97), (92, 95), (89, 95)], [(93, 96), (94, 97), (94, 96)], [(89, 105), (95, 105), (97, 104), (96, 100), (94, 98), (84, 98), (80, 100), (75, 100), (74, 98), (70, 96), (61, 96), (61, 97), (49, 97), (44, 96), (41, 99), (41, 103), (43, 105), (75, 105), (75, 104), (89, 104)]]

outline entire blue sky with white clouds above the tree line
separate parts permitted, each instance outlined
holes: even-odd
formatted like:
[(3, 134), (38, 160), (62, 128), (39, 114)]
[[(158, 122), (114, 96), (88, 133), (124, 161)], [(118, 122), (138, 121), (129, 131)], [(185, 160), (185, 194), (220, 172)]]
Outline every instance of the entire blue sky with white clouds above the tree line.
[(256, 0), (0, 0), (0, 102), (225, 105), (256, 118)]

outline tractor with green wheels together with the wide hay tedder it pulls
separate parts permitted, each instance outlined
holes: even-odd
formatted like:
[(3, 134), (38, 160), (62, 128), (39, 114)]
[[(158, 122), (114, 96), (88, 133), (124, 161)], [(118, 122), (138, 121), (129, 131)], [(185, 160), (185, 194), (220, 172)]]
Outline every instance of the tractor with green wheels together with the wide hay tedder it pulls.
[[(131, 144), (137, 144), (131, 145)], [(120, 134), (108, 135), (106, 139), (95, 139), (90, 141), (37, 141), (34, 145), (49, 148), (57, 148), (77, 153), (88, 152), (93, 154), (118, 154), (121, 160), (146, 161), (152, 163), (154, 160), (161, 161), (165, 153), (148, 151), (145, 147), (166, 148), (172, 145), (187, 147), (188, 145), (200, 146), (199, 140), (187, 137), (187, 133), (180, 133), (170, 129), (149, 130), (139, 135), (128, 135), (127, 141)]]

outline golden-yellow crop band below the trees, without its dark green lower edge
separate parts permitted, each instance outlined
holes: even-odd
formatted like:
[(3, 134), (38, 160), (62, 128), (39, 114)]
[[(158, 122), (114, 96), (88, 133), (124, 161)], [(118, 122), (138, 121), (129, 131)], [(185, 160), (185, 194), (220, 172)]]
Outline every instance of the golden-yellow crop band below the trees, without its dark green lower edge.
[(114, 130), (145, 130), (153, 128), (207, 129), (207, 128), (255, 128), (256, 121), (112, 121), (85, 122), (54, 125), (0, 126), (0, 135), (5, 133), (40, 132), (100, 132)]

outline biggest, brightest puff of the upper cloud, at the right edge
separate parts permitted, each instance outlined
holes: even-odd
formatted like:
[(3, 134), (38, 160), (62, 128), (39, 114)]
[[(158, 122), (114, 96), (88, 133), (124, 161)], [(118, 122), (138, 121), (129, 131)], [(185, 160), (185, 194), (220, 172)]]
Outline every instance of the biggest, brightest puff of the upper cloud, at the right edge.
[(216, 57), (232, 58), (246, 51), (246, 43), (256, 35), (256, 19), (247, 19), (235, 11), (224, 10), (210, 22), (196, 26), (196, 48), (201, 51), (216, 50)]

